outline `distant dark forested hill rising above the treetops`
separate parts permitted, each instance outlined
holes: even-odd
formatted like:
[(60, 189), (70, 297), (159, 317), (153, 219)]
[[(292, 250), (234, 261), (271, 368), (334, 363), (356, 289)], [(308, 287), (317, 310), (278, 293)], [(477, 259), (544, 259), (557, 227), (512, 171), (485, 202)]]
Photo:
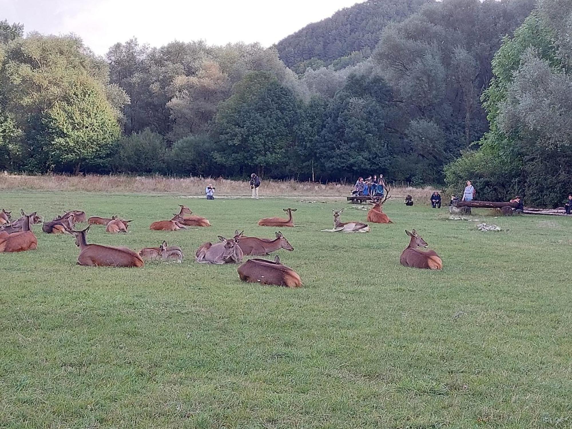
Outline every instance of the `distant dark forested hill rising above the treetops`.
[(364, 57), (367, 58), (388, 23), (403, 21), (424, 3), (432, 2), (433, 0), (368, 0), (357, 3), (337, 11), (330, 18), (305, 26), (282, 39), (276, 47), (280, 59), (291, 69), (298, 69), (301, 63), (315, 60), (329, 65), (337, 58), (358, 51), (364, 51)]

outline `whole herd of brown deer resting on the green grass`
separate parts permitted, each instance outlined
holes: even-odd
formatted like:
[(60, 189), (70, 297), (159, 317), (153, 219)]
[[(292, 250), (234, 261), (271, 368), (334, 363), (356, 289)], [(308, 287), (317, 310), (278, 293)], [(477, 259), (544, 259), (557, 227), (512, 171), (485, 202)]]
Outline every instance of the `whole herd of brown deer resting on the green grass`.
[[(390, 198), (391, 188), (383, 201), (377, 201), (368, 211), (367, 221), (371, 223), (389, 224), (392, 221), (383, 213), (383, 203)], [(260, 226), (266, 227), (295, 227), (292, 212), (296, 209), (287, 208), (288, 218), (267, 217), (259, 221)], [(333, 210), (333, 229), (323, 229), (328, 232), (369, 232), (370, 227), (360, 221), (341, 222), (340, 216), (344, 210)], [(21, 210), (18, 220), (11, 222), (11, 212), (2, 209), (0, 212), (0, 253), (23, 252), (34, 250), (38, 246), (37, 237), (32, 232), (32, 225), (43, 223), (42, 231), (50, 234), (70, 234), (76, 238), (76, 245), (80, 248), (77, 263), (89, 266), (110, 267), (143, 267), (145, 260), (174, 260), (181, 262), (184, 255), (180, 247), (168, 246), (163, 241), (159, 247), (146, 247), (139, 252), (134, 252), (126, 247), (112, 247), (101, 244), (88, 244), (86, 234), (92, 225), (105, 225), (108, 233), (126, 233), (129, 223), (133, 220), (119, 219), (117, 216), (110, 218), (92, 216), (86, 219), (85, 212), (72, 210), (62, 216), (57, 216), (51, 221), (44, 222), (36, 212), (26, 215)], [(74, 225), (85, 223), (89, 225), (81, 231), (76, 231)], [(180, 205), (180, 212), (173, 219), (153, 222), (149, 229), (154, 231), (178, 231), (188, 227), (210, 227), (210, 222), (201, 216), (194, 216), (186, 206)], [(442, 269), (443, 262), (432, 250), (423, 251), (419, 248), (427, 248), (427, 243), (414, 230), (406, 231), (410, 237), (408, 247), (402, 252), (400, 263), (406, 267)], [(243, 232), (235, 231), (232, 239), (217, 236), (219, 243), (204, 243), (195, 252), (195, 260), (201, 264), (229, 264), (241, 263), (245, 255), (264, 256), (276, 252), (279, 249), (293, 251), (294, 248), (278, 231), (275, 239), (261, 239), (248, 237)], [(292, 268), (280, 263), (278, 256), (275, 260), (253, 258), (241, 264), (237, 269), (239, 277), (243, 281), (260, 284), (283, 285), (287, 287), (300, 287), (300, 276)]]

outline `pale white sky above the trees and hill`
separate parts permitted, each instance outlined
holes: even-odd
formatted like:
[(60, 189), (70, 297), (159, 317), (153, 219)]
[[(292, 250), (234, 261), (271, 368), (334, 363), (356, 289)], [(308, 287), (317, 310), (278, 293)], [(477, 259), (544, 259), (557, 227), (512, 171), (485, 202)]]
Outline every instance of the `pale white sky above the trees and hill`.
[(0, 21), (25, 31), (79, 35), (100, 55), (137, 37), (161, 46), (174, 39), (209, 45), (270, 46), (311, 22), (363, 0), (0, 0)]

